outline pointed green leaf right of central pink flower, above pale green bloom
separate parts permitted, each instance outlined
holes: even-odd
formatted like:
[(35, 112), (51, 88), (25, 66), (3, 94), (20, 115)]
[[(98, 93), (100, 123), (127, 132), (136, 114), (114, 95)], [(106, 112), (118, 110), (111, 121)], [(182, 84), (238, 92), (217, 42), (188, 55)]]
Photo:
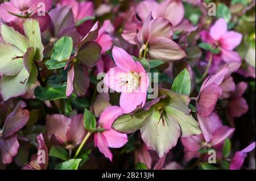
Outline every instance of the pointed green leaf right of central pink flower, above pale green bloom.
[(177, 75), (172, 83), (172, 91), (178, 92), (180, 94), (189, 95), (191, 91), (191, 79), (187, 69), (184, 69)]

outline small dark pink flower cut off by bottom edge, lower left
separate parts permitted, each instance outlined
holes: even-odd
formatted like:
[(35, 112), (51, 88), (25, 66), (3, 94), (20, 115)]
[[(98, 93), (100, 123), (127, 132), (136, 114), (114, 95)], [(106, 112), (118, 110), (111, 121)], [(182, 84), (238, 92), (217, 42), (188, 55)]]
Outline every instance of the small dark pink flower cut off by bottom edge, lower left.
[[(36, 141), (38, 141), (38, 154), (32, 155), (30, 163), (24, 165), (22, 170), (47, 170), (49, 155), (42, 133), (38, 134)], [(43, 152), (41, 153), (41, 151)], [(42, 163), (38, 163), (38, 160), (42, 161)]]

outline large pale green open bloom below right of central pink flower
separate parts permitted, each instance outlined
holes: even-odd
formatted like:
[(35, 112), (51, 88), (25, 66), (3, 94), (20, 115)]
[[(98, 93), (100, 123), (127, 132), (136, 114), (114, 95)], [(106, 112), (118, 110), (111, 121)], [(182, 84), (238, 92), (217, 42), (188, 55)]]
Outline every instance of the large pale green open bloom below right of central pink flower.
[(162, 88), (160, 95), (133, 115), (119, 116), (112, 128), (121, 133), (133, 133), (140, 129), (147, 147), (162, 158), (177, 144), (180, 136), (193, 136), (201, 134), (201, 131), (188, 108), (188, 95)]

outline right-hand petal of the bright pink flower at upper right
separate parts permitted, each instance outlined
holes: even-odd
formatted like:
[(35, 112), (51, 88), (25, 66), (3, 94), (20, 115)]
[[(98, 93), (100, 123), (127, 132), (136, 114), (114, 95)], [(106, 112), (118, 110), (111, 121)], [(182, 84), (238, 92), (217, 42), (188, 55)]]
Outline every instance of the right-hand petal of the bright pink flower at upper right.
[(225, 50), (233, 50), (241, 43), (241, 41), (242, 34), (235, 31), (226, 32), (220, 39), (221, 47)]

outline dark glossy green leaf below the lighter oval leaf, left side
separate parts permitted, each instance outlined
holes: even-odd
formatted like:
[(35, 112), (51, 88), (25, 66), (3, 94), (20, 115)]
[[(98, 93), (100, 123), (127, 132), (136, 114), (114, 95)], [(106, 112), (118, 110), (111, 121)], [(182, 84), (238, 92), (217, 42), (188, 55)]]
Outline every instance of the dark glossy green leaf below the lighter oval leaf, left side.
[(53, 75), (49, 78), (46, 87), (36, 87), (34, 94), (39, 100), (66, 99), (66, 85), (60, 76)]

